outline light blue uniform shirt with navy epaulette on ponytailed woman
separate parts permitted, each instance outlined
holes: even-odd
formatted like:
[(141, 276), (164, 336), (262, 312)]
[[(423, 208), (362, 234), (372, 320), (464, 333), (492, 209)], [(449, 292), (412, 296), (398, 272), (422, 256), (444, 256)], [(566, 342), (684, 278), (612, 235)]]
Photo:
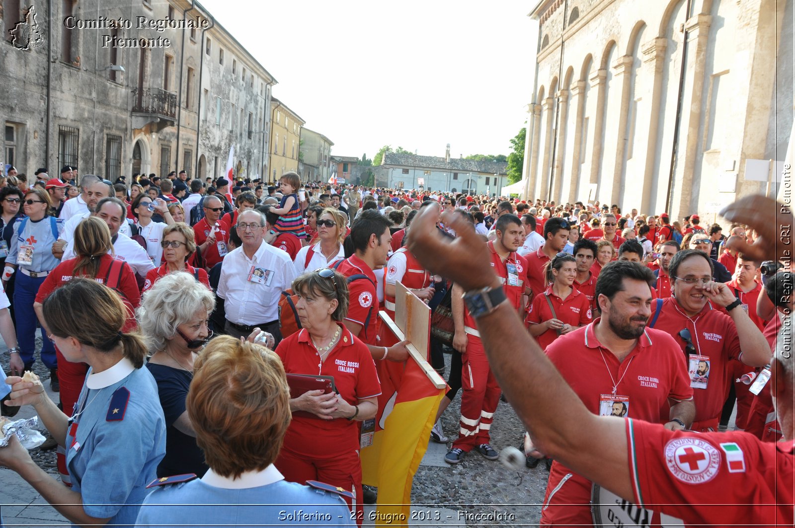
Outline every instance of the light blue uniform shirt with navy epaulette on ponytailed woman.
[[(129, 399), (114, 398), (120, 389)], [(89, 369), (72, 417), (66, 464), (83, 510), (111, 518), (108, 526), (134, 524), (165, 455), (165, 418), (149, 369), (128, 359), (98, 374)]]

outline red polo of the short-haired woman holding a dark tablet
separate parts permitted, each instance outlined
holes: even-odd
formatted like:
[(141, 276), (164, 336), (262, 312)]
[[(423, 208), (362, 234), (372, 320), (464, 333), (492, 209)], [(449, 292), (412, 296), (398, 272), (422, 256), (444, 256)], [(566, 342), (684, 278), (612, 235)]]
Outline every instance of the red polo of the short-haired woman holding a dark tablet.
[[(381, 382), (366, 344), (342, 324), (339, 326), (339, 343), (328, 352), (322, 363), (306, 328), (282, 340), (276, 347), (276, 354), (287, 373), (333, 376), (339, 395), (350, 405), (356, 405), (359, 400), (381, 394)], [(301, 449), (302, 445), (316, 444), (318, 438), (323, 438), (330, 449), (344, 450), (352, 443), (358, 449), (358, 433), (359, 424), (355, 421), (344, 418), (321, 420), (299, 415), (290, 422), (285, 441), (293, 449)]]

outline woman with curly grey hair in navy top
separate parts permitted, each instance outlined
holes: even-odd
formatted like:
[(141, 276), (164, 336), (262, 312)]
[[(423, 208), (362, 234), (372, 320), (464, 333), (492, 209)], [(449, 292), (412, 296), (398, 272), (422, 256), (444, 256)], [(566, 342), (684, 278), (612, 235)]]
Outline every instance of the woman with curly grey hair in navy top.
[(165, 457), (157, 476), (207, 472), (196, 433), (185, 410), (193, 362), (211, 337), (207, 317), (215, 296), (192, 274), (176, 271), (160, 278), (143, 295), (138, 323), (146, 336), (149, 363), (165, 414)]

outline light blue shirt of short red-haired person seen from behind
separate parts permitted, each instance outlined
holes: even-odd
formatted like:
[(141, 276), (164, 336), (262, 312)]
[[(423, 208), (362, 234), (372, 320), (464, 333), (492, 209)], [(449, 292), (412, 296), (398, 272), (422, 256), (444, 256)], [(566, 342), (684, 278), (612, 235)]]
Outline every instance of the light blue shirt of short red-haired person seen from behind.
[(287, 482), (271, 464), (235, 480), (210, 470), (202, 479), (156, 487), (136, 526), (354, 526), (351, 518), (340, 495)]

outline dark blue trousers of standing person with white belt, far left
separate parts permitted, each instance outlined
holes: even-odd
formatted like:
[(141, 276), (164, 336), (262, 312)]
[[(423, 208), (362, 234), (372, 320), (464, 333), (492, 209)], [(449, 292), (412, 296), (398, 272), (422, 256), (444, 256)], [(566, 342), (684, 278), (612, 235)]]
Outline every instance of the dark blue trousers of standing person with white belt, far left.
[[(44, 277), (28, 277), (17, 270), (16, 285), (14, 288), (14, 311), (17, 313), (17, 342), (19, 344), (19, 356), (22, 363), (29, 365), (35, 361), (33, 353), (36, 351), (36, 329), (39, 320), (36, 312), (33, 311), (33, 301), (36, 301), (36, 294), (39, 286), (45, 281)], [(41, 330), (41, 363), (49, 369), (56, 368), (58, 361), (55, 355), (55, 346)]]

